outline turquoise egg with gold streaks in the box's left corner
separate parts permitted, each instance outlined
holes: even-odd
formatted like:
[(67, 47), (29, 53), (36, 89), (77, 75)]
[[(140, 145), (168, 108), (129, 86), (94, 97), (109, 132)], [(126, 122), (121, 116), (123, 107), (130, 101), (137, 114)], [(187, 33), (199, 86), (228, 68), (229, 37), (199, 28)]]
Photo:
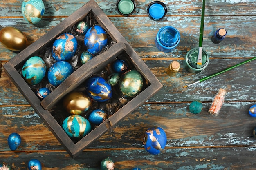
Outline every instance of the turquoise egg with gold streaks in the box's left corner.
[(41, 57), (29, 58), (22, 67), (22, 76), (28, 84), (38, 84), (45, 77), (46, 64)]

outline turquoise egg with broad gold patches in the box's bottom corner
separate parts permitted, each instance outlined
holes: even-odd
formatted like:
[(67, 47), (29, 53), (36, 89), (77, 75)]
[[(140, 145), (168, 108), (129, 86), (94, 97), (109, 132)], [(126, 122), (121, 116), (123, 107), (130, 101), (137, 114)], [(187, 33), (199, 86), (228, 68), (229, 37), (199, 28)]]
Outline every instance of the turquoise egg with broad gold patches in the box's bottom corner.
[(80, 115), (67, 117), (62, 124), (64, 131), (69, 137), (82, 138), (91, 131), (90, 122)]

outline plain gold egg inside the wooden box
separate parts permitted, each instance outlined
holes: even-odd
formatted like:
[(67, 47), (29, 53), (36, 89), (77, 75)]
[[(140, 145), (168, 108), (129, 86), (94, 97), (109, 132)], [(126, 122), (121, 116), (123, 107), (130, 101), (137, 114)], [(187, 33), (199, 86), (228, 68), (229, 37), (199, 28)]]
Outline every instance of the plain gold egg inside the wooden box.
[(63, 106), (68, 113), (80, 115), (92, 106), (92, 100), (82, 92), (72, 91), (64, 97)]

